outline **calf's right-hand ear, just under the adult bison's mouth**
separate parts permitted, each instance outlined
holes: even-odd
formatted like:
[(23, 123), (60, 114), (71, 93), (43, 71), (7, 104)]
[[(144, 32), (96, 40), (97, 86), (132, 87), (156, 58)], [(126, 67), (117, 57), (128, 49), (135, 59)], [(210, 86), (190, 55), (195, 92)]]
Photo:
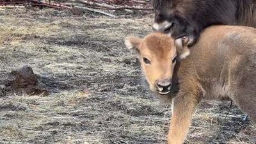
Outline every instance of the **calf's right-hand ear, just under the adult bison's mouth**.
[(179, 53), (180, 60), (187, 58), (190, 54), (190, 49), (188, 49), (189, 38), (184, 36), (175, 40), (175, 47)]

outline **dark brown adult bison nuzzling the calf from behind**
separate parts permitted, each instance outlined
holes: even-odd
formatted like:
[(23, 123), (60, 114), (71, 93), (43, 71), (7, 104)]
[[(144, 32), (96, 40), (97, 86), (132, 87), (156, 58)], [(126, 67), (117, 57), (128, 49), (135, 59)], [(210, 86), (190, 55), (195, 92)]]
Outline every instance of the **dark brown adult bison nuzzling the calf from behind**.
[(152, 0), (154, 29), (195, 44), (202, 29), (214, 24), (256, 27), (256, 0)]

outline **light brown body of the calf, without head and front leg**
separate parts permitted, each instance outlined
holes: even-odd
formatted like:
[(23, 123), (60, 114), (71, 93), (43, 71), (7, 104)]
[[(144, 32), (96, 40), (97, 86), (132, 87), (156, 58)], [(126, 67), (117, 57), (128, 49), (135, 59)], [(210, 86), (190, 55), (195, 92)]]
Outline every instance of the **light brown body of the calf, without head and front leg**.
[(191, 47), (191, 54), (181, 62), (178, 75), (183, 86), (195, 84), (191, 83), (194, 79), (202, 88), (202, 97), (230, 98), (256, 121), (256, 29), (205, 29)]

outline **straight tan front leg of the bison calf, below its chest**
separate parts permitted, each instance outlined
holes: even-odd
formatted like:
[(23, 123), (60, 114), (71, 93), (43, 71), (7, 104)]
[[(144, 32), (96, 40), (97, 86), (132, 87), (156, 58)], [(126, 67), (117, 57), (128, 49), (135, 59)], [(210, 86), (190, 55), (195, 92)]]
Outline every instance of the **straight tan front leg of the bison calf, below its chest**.
[(199, 102), (200, 96), (193, 93), (179, 95), (173, 99), (168, 144), (181, 144), (185, 141), (193, 113)]

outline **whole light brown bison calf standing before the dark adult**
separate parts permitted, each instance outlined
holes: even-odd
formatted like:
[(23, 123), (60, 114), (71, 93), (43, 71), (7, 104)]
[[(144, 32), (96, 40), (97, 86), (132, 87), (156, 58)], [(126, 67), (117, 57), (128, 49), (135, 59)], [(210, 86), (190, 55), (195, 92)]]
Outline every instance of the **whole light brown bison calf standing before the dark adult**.
[(231, 99), (256, 121), (256, 29), (211, 26), (187, 49), (188, 38), (162, 33), (125, 44), (138, 52), (150, 90), (172, 100), (168, 143), (183, 143), (202, 99)]

